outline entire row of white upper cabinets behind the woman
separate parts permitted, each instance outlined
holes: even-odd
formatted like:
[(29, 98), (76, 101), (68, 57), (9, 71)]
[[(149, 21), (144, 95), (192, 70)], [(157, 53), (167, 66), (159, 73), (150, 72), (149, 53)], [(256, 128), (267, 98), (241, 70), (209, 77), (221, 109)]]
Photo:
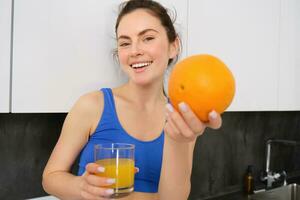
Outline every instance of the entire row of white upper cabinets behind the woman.
[[(0, 1), (0, 112), (67, 112), (82, 94), (125, 82), (113, 58), (121, 2), (14, 1), (10, 57), (12, 2)], [(212, 54), (232, 70), (229, 110), (300, 109), (298, 0), (159, 2), (176, 10), (182, 58)]]

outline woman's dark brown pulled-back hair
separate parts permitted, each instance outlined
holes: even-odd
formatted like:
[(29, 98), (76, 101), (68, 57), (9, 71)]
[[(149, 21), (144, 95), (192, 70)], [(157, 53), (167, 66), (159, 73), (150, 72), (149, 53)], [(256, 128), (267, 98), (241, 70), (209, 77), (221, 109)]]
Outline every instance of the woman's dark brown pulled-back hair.
[[(129, 0), (124, 3), (122, 3), (119, 7), (119, 15), (116, 21), (115, 25), (115, 34), (117, 36), (118, 27), (120, 24), (121, 19), (137, 10), (137, 9), (145, 9), (149, 11), (150, 14), (152, 14), (154, 17), (159, 19), (161, 22), (161, 25), (165, 28), (167, 37), (170, 43), (175, 42), (175, 40), (178, 38), (178, 34), (174, 28), (174, 21), (176, 19), (176, 13), (174, 15), (174, 20), (171, 19), (168, 10), (163, 7), (160, 3), (152, 0)], [(178, 59), (178, 56), (176, 56), (175, 60), (174, 58), (169, 59), (168, 64), (170, 65), (173, 62), (176, 62)]]

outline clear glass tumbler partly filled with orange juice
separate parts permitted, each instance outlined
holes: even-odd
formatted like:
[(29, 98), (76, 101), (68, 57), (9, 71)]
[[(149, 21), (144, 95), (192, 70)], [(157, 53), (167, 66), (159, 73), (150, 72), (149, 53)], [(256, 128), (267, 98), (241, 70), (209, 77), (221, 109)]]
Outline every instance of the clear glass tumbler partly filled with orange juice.
[(95, 162), (105, 168), (97, 175), (115, 179), (115, 183), (108, 186), (114, 190), (112, 198), (127, 196), (134, 189), (134, 150), (133, 144), (126, 143), (97, 144), (94, 147)]

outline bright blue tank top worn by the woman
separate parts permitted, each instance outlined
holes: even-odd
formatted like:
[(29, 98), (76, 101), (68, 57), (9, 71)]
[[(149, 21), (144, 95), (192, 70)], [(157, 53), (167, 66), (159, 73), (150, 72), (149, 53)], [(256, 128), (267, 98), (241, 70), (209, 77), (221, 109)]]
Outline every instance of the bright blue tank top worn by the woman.
[(130, 143), (135, 145), (135, 166), (139, 172), (135, 174), (134, 191), (156, 193), (160, 179), (164, 132), (152, 141), (140, 141), (130, 136), (119, 122), (113, 93), (110, 88), (101, 89), (104, 95), (104, 109), (95, 132), (81, 151), (78, 175), (82, 175), (85, 166), (94, 162), (93, 148), (101, 143)]

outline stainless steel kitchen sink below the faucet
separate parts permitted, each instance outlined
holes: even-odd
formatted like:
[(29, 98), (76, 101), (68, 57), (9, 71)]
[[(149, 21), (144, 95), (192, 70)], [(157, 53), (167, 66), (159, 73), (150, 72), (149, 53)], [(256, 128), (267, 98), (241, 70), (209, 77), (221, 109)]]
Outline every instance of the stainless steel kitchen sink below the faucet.
[(293, 183), (255, 193), (250, 196), (252, 200), (300, 200), (300, 185)]

